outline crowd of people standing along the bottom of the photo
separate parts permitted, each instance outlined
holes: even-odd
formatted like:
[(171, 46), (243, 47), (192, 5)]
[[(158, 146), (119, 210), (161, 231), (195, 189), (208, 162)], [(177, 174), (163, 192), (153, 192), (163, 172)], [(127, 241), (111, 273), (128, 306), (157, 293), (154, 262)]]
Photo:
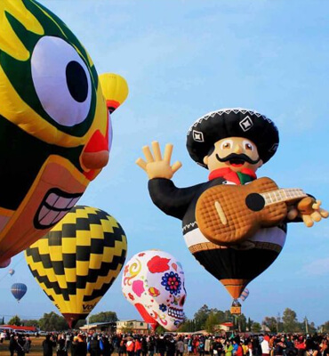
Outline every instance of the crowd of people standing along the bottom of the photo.
[[(329, 356), (329, 335), (116, 335), (60, 333), (45, 336), (44, 356)], [(24, 356), (30, 337), (10, 336), (11, 356)]]

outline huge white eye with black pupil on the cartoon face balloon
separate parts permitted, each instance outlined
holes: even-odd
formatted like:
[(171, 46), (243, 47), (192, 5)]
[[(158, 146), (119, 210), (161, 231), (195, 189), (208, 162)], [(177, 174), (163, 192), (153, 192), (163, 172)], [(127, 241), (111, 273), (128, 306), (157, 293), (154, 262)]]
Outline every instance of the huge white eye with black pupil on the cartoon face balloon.
[(47, 114), (60, 125), (83, 122), (91, 106), (91, 77), (75, 48), (59, 37), (44, 36), (33, 50), (31, 69)]

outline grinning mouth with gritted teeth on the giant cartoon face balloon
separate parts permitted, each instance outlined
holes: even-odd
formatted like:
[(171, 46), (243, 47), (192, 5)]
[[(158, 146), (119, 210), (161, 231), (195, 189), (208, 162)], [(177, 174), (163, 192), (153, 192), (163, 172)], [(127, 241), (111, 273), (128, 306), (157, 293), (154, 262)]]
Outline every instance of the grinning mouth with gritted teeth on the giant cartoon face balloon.
[(82, 194), (69, 194), (59, 189), (49, 190), (38, 209), (38, 227), (45, 229), (58, 223), (81, 196)]

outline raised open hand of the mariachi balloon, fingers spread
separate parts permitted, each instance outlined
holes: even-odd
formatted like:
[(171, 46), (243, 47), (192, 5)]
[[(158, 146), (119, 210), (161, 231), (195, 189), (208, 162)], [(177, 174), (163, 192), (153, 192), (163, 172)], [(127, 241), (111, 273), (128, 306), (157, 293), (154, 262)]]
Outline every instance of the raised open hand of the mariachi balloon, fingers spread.
[(173, 174), (181, 168), (181, 162), (177, 161), (171, 166), (173, 145), (167, 143), (164, 148), (164, 158), (161, 156), (159, 143), (152, 142), (152, 150), (148, 146), (142, 148), (146, 161), (142, 158), (136, 160), (136, 164), (140, 166), (148, 174), (148, 179), (152, 178), (166, 178), (171, 179)]

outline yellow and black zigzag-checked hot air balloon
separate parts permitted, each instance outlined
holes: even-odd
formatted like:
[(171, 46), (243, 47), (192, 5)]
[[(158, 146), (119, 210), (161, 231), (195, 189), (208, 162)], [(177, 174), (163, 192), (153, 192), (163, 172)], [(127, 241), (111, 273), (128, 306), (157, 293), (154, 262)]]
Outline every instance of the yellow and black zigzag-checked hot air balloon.
[(28, 267), (73, 328), (84, 320), (121, 271), (124, 230), (108, 213), (75, 206), (25, 252)]

